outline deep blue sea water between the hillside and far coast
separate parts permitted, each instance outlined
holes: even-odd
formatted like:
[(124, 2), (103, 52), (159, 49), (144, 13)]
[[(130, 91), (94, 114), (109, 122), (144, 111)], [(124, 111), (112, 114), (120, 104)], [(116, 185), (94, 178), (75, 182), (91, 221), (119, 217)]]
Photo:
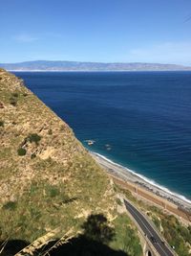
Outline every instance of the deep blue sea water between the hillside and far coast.
[(191, 199), (191, 72), (15, 74), (89, 150)]

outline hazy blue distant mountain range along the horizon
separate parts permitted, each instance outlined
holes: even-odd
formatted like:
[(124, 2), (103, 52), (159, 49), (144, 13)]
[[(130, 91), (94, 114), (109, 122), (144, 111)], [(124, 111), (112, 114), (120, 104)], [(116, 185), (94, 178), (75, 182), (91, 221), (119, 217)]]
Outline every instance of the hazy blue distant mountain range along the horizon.
[(0, 63), (9, 71), (191, 71), (190, 66), (159, 63), (102, 63), (62, 60), (35, 60), (19, 63)]

